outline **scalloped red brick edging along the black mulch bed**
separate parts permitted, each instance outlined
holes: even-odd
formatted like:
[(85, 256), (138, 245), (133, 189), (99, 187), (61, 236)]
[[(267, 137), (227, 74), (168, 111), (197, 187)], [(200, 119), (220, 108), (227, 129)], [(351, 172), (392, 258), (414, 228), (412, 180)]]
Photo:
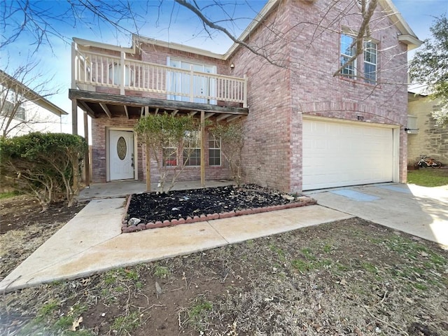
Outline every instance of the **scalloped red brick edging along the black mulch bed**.
[[(132, 197), (132, 195), (130, 195), (130, 197), (127, 200), (126, 211), (125, 211), (124, 217), (126, 216), (127, 210), (129, 209), (131, 197)], [(298, 207), (306, 207), (307, 205), (314, 205), (314, 204), (317, 204), (317, 201), (312, 199), (311, 197), (307, 197), (307, 200), (302, 200), (300, 202), (290, 202), (288, 204), (272, 205), (269, 207), (253, 208), (253, 209), (242, 209), (242, 210), (237, 210), (237, 211), (232, 210), (232, 211), (228, 211), (228, 212), (222, 212), (220, 214), (215, 213), (215, 214), (194, 216), (193, 218), (188, 216), (187, 218), (179, 218), (179, 219), (175, 218), (175, 219), (172, 219), (171, 221), (165, 220), (165, 221), (157, 221), (155, 223), (149, 222), (146, 224), (139, 223), (137, 225), (130, 225), (130, 226), (127, 225), (127, 221), (125, 221), (125, 218), (123, 218), (121, 232), (127, 233), (127, 232), (136, 232), (136, 231), (155, 229), (155, 228), (165, 228), (167, 226), (174, 226), (174, 225), (180, 225), (180, 224), (198, 223), (198, 222), (212, 221), (214, 219), (230, 218), (230, 217), (235, 217), (235, 216), (260, 214), (262, 212), (291, 209), (291, 208), (298, 208)]]

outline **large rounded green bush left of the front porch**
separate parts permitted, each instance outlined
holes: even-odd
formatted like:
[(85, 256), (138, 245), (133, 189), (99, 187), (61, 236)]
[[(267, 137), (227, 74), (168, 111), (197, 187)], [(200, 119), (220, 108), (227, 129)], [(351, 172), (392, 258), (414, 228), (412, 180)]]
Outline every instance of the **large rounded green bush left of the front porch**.
[(0, 138), (1, 183), (34, 195), (44, 210), (60, 199), (71, 206), (86, 152), (85, 139), (72, 134), (34, 132)]

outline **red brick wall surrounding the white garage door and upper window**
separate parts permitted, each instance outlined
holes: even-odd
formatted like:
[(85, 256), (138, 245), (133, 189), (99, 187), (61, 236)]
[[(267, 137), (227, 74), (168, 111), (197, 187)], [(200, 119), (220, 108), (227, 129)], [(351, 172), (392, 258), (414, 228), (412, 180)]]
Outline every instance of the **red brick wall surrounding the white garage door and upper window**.
[[(346, 8), (349, 15), (341, 15)], [(275, 22), (276, 34), (274, 29), (258, 29), (248, 41), (268, 44), (266, 55), (280, 66), (245, 48), (231, 59), (235, 75), (248, 76), (246, 181), (288, 192), (302, 190), (303, 114), (346, 120), (362, 116), (365, 123), (406, 125), (407, 46), (398, 41), (393, 23), (381, 18), (381, 8), (370, 24), (381, 50), (379, 84), (333, 76), (339, 68), (339, 32), (343, 27), (356, 31), (359, 11), (353, 0), (281, 1), (263, 22), (267, 27)], [(401, 131), (400, 181), (406, 180), (406, 148)]]

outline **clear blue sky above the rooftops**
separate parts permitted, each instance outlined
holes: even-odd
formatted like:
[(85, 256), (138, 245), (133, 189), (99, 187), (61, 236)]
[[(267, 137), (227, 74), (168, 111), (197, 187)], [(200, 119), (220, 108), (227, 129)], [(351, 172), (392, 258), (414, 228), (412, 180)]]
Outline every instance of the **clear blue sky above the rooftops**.
[[(246, 3), (236, 6), (233, 4), (234, 1), (227, 0), (224, 2), (228, 3), (224, 8), (225, 14), (228, 17), (240, 18), (226, 26), (238, 36), (239, 32), (248, 25), (250, 19), (258, 13), (266, 1), (248, 0)], [(225, 38), (222, 34), (214, 34), (213, 39), (210, 39), (196, 16), (181, 8), (172, 0), (162, 1), (162, 6), (160, 6), (159, 0), (153, 0), (149, 8), (143, 8), (143, 3), (139, 1), (133, 3), (133, 6), (138, 8), (138, 13), (141, 13), (137, 25), (140, 27), (139, 33), (142, 36), (183, 43), (218, 53), (225, 52), (232, 44), (230, 39)], [(216, 13), (223, 13), (223, 10), (207, 6), (212, 1), (200, 0), (199, 3), (206, 8), (205, 10), (212, 18)], [(232, 3), (232, 5), (229, 5), (229, 3)], [(393, 0), (393, 3), (421, 40), (430, 38), (429, 27), (433, 24), (434, 17), (448, 13), (448, 0)], [(60, 13), (60, 15), (63, 15), (69, 9), (66, 1), (47, 0), (40, 2), (39, 6), (51, 13)], [(241, 15), (241, 13), (243, 14)], [(79, 11), (78, 15), (87, 17), (90, 13)], [(130, 22), (123, 23), (130, 24)], [(65, 41), (61, 38), (52, 37), (51, 48), (48, 45), (43, 45), (38, 52), (31, 55), (31, 59), (40, 60), (41, 73), (48, 78), (52, 78), (51, 86), (57, 87), (60, 91), (59, 94), (55, 94), (48, 99), (65, 111), (70, 112), (71, 102), (68, 99), (68, 90), (71, 82), (71, 47), (69, 44), (71, 38), (75, 36), (113, 45), (130, 46), (131, 34), (129, 32), (117, 34), (110, 27), (102, 25), (98, 20), (89, 20), (88, 23), (80, 23), (79, 20), (64, 20), (63, 22), (54, 22), (53, 27), (56, 28), (58, 34), (66, 36)], [(135, 31), (132, 25), (129, 25), (129, 27), (130, 31)], [(27, 57), (34, 50), (34, 45), (29, 45), (30, 38), (29, 34), (23, 35), (15, 43), (8, 45), (6, 50), (1, 50), (2, 69), (5, 68), (6, 63), (9, 63), (8, 68), (14, 69), (20, 62), (26, 62)], [(8, 72), (8, 69), (6, 71)], [(64, 132), (71, 132), (71, 116), (65, 117), (63, 123)]]

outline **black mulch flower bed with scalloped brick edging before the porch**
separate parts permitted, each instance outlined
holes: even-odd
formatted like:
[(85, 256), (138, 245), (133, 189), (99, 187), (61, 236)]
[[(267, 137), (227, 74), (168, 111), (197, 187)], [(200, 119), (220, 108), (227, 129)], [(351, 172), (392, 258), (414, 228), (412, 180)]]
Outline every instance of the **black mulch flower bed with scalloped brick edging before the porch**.
[(310, 197), (288, 195), (256, 185), (224, 186), (166, 193), (133, 194), (122, 232), (210, 221), (316, 204)]

